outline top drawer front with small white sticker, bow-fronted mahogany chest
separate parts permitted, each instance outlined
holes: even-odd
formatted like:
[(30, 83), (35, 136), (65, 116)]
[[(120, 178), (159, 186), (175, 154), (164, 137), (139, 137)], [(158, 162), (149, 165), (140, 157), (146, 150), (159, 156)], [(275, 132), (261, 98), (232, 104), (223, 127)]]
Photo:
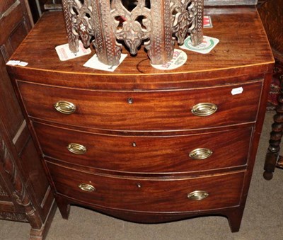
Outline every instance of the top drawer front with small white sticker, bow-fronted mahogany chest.
[(189, 130), (255, 121), (262, 82), (151, 92), (87, 91), (22, 81), (18, 87), (34, 118), (105, 130)]

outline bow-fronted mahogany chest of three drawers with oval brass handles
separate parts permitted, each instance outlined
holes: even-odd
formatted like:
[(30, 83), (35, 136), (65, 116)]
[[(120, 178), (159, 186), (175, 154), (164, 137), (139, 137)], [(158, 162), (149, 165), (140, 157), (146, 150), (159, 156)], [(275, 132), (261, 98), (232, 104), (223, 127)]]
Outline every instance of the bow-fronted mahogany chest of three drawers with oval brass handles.
[(83, 67), (91, 55), (60, 62), (59, 12), (13, 54), (28, 62), (8, 72), (62, 217), (71, 204), (134, 222), (216, 214), (238, 231), (273, 57), (255, 7), (206, 11), (219, 44), (168, 72), (142, 49), (111, 73)]

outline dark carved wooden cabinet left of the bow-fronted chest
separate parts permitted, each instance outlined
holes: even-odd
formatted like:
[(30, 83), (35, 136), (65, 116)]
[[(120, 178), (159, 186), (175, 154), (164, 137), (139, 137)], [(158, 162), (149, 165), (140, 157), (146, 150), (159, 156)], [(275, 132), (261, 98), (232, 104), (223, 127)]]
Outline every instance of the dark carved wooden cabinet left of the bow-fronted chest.
[(54, 197), (5, 65), (31, 29), (30, 19), (25, 1), (0, 1), (0, 219), (29, 222), (30, 239), (41, 239)]

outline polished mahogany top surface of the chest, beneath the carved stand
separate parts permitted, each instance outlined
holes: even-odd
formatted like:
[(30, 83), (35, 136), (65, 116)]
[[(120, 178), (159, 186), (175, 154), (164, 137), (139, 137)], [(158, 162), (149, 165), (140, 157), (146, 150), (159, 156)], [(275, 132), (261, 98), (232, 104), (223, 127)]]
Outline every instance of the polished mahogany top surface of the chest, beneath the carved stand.
[(204, 28), (204, 35), (218, 38), (220, 42), (209, 54), (185, 51), (187, 62), (178, 69), (161, 71), (151, 67), (144, 46), (141, 46), (135, 57), (129, 56), (129, 52), (124, 49), (122, 53), (127, 53), (128, 57), (115, 72), (83, 67), (94, 55), (93, 48), (91, 55), (62, 62), (55, 47), (67, 43), (64, 18), (62, 12), (47, 12), (11, 57), (28, 62), (28, 66), (8, 67), (8, 71), (30, 76), (35, 73), (40, 76), (40, 72), (44, 71), (58, 79), (61, 74), (64, 74), (64, 79), (67, 75), (73, 79), (73, 74), (83, 74), (86, 81), (92, 76), (92, 81), (98, 78), (100, 83), (119, 81), (130, 84), (131, 88), (134, 84), (149, 82), (165, 84), (169, 81), (208, 79), (208, 76), (209, 79), (253, 74), (256, 76), (258, 73), (271, 71), (274, 59), (255, 6), (207, 7), (206, 11), (212, 17), (213, 28)]

